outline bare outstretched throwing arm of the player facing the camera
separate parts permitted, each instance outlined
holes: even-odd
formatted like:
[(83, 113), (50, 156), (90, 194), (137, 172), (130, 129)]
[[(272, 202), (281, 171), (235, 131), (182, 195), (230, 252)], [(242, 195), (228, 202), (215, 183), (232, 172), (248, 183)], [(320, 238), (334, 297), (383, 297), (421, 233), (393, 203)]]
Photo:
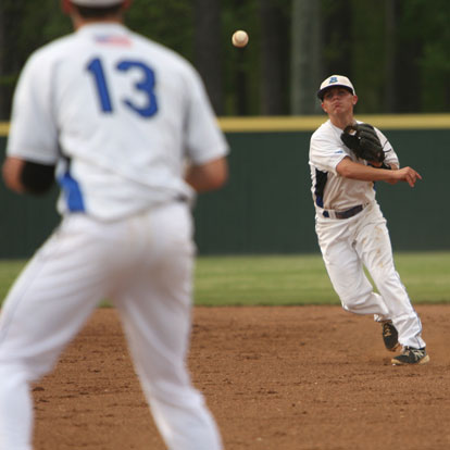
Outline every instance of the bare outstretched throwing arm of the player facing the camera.
[(417, 179), (422, 179), (421, 174), (412, 167), (392, 168), (371, 167), (370, 165), (357, 163), (350, 158), (345, 158), (337, 165), (336, 171), (346, 178), (360, 179), (362, 182), (387, 182), (390, 184), (405, 182), (411, 187), (414, 187)]

